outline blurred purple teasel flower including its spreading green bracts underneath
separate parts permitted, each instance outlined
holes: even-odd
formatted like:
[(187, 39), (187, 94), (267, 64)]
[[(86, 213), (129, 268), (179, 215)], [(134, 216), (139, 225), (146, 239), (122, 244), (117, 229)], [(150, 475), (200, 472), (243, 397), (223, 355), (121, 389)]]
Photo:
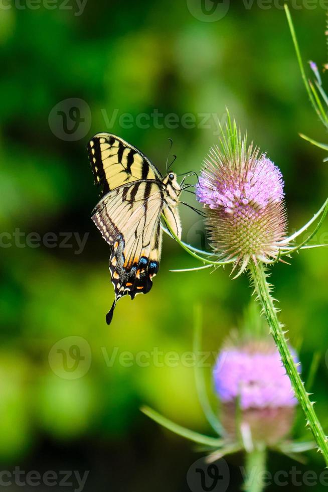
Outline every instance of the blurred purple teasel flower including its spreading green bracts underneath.
[[(299, 371), (298, 358), (292, 353)], [(149, 407), (142, 411), (172, 432), (206, 446), (208, 463), (239, 451), (246, 451), (246, 456), (259, 452), (265, 461), (269, 449), (296, 456), (315, 448), (313, 441), (290, 439), (297, 400), (270, 337), (234, 332), (218, 354), (213, 377), (220, 414), (211, 408), (203, 378), (197, 377), (196, 382), (200, 403), (217, 437), (177, 425)], [(262, 458), (259, 472), (264, 466)]]

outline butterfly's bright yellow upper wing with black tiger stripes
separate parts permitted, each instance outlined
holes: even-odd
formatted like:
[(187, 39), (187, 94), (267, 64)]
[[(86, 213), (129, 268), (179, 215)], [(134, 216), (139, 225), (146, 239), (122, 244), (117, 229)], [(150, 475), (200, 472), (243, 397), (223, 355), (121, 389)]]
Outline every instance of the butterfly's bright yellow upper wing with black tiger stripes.
[(162, 179), (146, 156), (115, 135), (99, 133), (90, 140), (87, 148), (100, 197), (124, 183)]

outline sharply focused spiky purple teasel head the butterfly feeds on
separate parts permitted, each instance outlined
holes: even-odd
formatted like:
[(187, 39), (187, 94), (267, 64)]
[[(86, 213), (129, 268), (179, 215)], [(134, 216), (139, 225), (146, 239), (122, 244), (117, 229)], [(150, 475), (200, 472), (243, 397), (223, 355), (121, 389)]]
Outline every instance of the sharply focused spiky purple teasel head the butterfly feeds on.
[(278, 167), (247, 146), (228, 116), (220, 147), (211, 149), (196, 187), (220, 260), (234, 260), (243, 271), (250, 260), (278, 257), (287, 228), (283, 184)]

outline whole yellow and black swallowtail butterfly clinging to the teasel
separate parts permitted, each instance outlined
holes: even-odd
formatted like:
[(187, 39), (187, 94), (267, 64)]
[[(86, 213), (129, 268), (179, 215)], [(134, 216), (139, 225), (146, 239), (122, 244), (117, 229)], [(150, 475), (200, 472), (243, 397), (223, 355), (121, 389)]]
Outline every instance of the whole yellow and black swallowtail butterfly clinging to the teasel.
[(91, 218), (111, 247), (115, 299), (106, 315), (109, 325), (121, 297), (134, 299), (152, 287), (161, 253), (161, 214), (181, 238), (182, 186), (175, 173), (163, 177), (142, 152), (115, 135), (98, 133), (87, 150), (101, 198)]

